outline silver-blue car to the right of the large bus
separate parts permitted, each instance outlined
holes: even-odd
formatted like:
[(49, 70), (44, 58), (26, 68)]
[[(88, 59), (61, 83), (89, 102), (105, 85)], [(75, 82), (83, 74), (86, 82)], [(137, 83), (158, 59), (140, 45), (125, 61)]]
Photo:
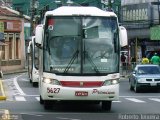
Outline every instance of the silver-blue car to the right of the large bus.
[(136, 65), (129, 76), (130, 90), (136, 93), (147, 88), (160, 90), (160, 67), (153, 64)]

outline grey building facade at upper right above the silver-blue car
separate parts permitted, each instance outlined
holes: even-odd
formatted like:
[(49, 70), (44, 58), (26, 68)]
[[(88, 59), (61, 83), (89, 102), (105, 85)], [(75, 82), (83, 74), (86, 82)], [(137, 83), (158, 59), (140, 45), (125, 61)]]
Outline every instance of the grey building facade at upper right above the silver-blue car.
[[(160, 52), (160, 37), (155, 39), (152, 28), (159, 25), (157, 0), (122, 0), (121, 21), (128, 31), (128, 50), (140, 61), (148, 52)], [(156, 29), (157, 30), (157, 29)]]

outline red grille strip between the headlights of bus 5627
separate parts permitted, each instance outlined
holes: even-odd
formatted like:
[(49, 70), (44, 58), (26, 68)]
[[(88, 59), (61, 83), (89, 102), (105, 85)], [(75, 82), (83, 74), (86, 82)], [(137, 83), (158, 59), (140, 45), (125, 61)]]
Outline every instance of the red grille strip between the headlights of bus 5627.
[(102, 81), (61, 81), (64, 87), (101, 87)]

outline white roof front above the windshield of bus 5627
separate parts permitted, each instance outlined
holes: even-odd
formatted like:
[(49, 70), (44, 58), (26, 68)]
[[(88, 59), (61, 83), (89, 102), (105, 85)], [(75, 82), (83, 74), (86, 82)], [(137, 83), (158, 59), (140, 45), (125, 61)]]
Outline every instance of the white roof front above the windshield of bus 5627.
[(114, 16), (114, 12), (104, 11), (97, 7), (62, 6), (52, 11), (47, 11), (45, 16)]

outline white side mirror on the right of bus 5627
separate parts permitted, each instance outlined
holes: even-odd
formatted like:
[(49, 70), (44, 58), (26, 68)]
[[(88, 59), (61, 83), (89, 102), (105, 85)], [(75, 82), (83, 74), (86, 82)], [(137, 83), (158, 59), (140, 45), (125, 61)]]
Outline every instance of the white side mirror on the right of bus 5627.
[(128, 45), (127, 30), (123, 26), (119, 26), (119, 37), (120, 37), (121, 47), (127, 46)]

